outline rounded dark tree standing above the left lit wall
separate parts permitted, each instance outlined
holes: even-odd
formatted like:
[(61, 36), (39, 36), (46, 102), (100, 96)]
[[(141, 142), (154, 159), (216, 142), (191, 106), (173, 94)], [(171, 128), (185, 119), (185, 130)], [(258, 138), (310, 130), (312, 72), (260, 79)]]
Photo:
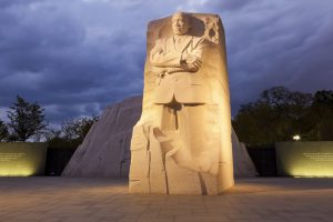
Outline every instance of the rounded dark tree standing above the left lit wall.
[(44, 109), (37, 102), (30, 103), (17, 95), (17, 102), (9, 108), (8, 123), (11, 131), (11, 140), (27, 141), (32, 135), (46, 129)]

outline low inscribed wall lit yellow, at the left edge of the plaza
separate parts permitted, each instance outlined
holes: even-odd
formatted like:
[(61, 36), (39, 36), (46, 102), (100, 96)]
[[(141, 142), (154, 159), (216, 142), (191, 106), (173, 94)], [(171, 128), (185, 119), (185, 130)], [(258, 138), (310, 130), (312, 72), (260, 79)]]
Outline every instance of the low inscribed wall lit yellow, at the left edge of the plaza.
[(48, 143), (0, 143), (0, 176), (43, 175)]

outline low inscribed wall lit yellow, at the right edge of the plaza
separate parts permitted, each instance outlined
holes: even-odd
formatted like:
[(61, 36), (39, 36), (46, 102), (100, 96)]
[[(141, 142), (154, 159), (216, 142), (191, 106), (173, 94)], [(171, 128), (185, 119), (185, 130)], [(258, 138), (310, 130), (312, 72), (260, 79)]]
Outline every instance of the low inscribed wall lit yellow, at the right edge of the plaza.
[(333, 178), (333, 142), (275, 143), (278, 175)]

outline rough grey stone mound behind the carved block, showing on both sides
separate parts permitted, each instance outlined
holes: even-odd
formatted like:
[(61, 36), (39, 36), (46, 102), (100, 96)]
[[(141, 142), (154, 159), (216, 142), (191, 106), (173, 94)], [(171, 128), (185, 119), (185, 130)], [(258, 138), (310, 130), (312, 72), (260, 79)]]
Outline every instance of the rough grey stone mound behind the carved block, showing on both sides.
[[(128, 178), (133, 125), (142, 109), (142, 97), (109, 105), (93, 124), (64, 169), (63, 176)], [(255, 176), (256, 171), (243, 143), (232, 131), (235, 176)]]

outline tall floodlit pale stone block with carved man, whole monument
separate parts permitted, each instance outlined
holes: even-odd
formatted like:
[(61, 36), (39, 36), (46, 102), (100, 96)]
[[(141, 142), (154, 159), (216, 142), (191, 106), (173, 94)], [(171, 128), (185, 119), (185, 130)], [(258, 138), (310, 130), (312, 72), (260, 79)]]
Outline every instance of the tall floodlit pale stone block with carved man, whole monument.
[(230, 95), (220, 18), (176, 12), (152, 21), (147, 51), (130, 192), (216, 194), (229, 189)]

